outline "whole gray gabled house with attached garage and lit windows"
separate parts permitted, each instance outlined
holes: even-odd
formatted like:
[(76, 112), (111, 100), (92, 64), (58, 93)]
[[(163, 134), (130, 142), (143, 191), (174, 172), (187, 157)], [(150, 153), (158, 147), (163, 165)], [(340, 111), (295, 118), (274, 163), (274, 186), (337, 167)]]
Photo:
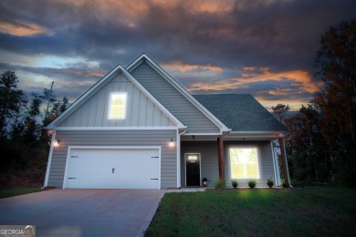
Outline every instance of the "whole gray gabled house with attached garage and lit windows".
[(250, 95), (191, 95), (150, 57), (117, 66), (47, 129), (45, 187), (169, 189), (207, 178), (280, 185), (286, 128)]

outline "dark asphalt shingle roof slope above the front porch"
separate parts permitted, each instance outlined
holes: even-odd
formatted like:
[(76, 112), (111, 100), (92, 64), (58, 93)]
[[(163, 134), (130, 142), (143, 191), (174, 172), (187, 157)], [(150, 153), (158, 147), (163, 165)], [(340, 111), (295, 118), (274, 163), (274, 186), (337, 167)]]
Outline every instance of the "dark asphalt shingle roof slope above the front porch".
[(248, 94), (194, 95), (232, 131), (286, 131), (286, 127)]

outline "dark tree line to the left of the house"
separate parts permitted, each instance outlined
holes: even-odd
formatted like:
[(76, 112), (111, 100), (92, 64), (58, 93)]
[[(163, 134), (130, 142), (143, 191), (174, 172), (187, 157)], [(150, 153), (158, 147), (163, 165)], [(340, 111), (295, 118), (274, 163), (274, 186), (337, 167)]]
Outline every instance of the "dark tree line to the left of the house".
[(51, 89), (26, 96), (17, 84), (14, 71), (1, 74), (0, 188), (43, 184), (50, 143), (44, 128), (68, 107)]

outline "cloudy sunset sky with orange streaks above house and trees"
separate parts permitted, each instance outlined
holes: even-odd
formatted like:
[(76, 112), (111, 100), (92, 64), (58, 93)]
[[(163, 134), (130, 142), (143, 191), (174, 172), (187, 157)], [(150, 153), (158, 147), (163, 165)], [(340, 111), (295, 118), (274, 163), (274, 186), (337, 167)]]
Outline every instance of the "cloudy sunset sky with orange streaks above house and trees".
[(355, 0), (2, 0), (0, 72), (74, 101), (146, 53), (192, 94), (249, 93), (298, 109), (322, 83), (320, 36)]

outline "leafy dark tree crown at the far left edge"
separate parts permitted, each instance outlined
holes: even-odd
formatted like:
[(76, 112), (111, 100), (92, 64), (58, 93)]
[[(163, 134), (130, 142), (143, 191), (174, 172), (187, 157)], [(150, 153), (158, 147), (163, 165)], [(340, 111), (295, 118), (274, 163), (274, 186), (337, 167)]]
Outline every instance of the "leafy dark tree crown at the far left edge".
[(9, 120), (18, 117), (26, 104), (24, 92), (17, 89), (18, 79), (15, 72), (5, 71), (0, 79), (0, 137), (6, 138), (9, 133)]

